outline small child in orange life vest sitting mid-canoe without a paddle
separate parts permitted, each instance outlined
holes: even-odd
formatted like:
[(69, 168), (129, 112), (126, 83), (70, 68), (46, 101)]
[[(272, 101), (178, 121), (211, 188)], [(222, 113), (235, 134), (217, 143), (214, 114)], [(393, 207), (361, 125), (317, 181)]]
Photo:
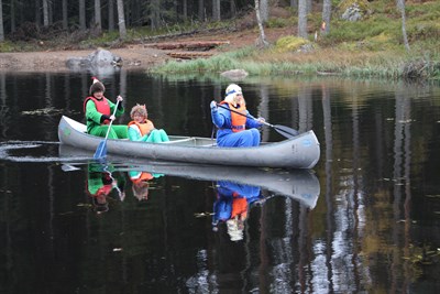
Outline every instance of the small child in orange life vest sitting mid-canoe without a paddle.
[(129, 139), (131, 141), (143, 142), (168, 142), (168, 135), (162, 129), (154, 128), (154, 124), (148, 120), (148, 113), (145, 105), (136, 105), (131, 109), (129, 122)]

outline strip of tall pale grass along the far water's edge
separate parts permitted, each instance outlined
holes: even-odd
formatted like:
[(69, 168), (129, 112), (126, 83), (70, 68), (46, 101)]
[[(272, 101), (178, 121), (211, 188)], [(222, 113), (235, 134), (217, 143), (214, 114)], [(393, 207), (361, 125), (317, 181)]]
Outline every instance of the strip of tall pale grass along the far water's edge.
[(319, 50), (307, 54), (273, 53), (253, 47), (223, 53), (207, 59), (170, 61), (152, 73), (222, 73), (241, 68), (250, 75), (341, 75), (386, 78), (440, 78), (440, 62), (429, 56), (398, 55), (395, 52), (344, 52)]

